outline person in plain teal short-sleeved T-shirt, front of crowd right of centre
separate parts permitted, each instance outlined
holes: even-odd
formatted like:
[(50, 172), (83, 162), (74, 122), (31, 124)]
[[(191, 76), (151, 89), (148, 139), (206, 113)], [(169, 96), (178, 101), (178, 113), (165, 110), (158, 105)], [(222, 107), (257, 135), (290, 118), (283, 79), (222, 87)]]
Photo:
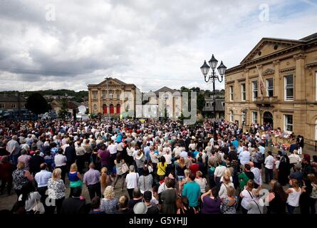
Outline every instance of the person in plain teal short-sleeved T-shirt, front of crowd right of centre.
[(200, 187), (196, 182), (194, 182), (194, 179), (195, 176), (192, 173), (189, 173), (187, 183), (184, 185), (182, 190), (182, 196), (187, 197), (189, 207), (197, 207), (200, 197)]

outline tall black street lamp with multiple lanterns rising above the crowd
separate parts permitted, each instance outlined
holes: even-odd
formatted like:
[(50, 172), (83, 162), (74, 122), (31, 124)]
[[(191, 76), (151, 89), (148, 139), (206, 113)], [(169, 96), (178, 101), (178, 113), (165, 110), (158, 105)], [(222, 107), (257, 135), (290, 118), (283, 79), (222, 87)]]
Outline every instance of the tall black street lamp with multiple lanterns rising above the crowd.
[[(224, 63), (220, 63), (220, 65), (217, 68), (217, 64), (218, 61), (216, 58), (214, 58), (214, 55), (212, 55), (212, 58), (210, 58), (209, 60), (209, 65), (207, 64), (206, 61), (204, 61), (204, 64), (202, 64), (202, 66), (200, 67), (200, 70), (202, 71), (202, 75), (204, 76), (204, 81), (206, 83), (208, 83), (211, 79), (212, 79), (212, 88), (214, 90), (214, 102), (213, 102), (213, 106), (214, 106), (214, 140), (217, 140), (217, 134), (216, 134), (216, 88), (215, 88), (215, 83), (216, 81), (219, 81), (219, 83), (221, 83), (224, 79), (224, 74), (226, 73), (226, 69), (227, 67), (224, 66)], [(209, 69), (212, 68), (212, 73), (207, 76)], [(214, 70), (217, 68), (220, 78), (219, 76), (217, 76), (217, 74), (214, 72)]]

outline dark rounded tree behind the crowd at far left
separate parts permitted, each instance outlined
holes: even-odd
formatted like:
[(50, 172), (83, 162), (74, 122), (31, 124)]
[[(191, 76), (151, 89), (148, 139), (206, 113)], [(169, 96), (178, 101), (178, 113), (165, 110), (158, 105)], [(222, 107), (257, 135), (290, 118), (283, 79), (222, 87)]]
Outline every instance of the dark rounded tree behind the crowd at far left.
[(32, 93), (28, 96), (26, 108), (36, 115), (46, 113), (49, 109), (47, 101), (40, 93)]

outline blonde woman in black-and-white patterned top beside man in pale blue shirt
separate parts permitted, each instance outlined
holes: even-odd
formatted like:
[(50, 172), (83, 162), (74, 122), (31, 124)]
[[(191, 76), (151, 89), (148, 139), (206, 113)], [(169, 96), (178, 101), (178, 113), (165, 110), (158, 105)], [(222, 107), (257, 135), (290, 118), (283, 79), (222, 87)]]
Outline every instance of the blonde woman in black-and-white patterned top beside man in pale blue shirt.
[(61, 174), (62, 170), (56, 168), (53, 170), (52, 178), (48, 179), (48, 198), (50, 202), (55, 202), (55, 204), (48, 206), (48, 211), (51, 212), (51, 214), (54, 213), (55, 208), (57, 209), (57, 214), (61, 212), (63, 200), (65, 199), (66, 187), (63, 180), (61, 180)]

